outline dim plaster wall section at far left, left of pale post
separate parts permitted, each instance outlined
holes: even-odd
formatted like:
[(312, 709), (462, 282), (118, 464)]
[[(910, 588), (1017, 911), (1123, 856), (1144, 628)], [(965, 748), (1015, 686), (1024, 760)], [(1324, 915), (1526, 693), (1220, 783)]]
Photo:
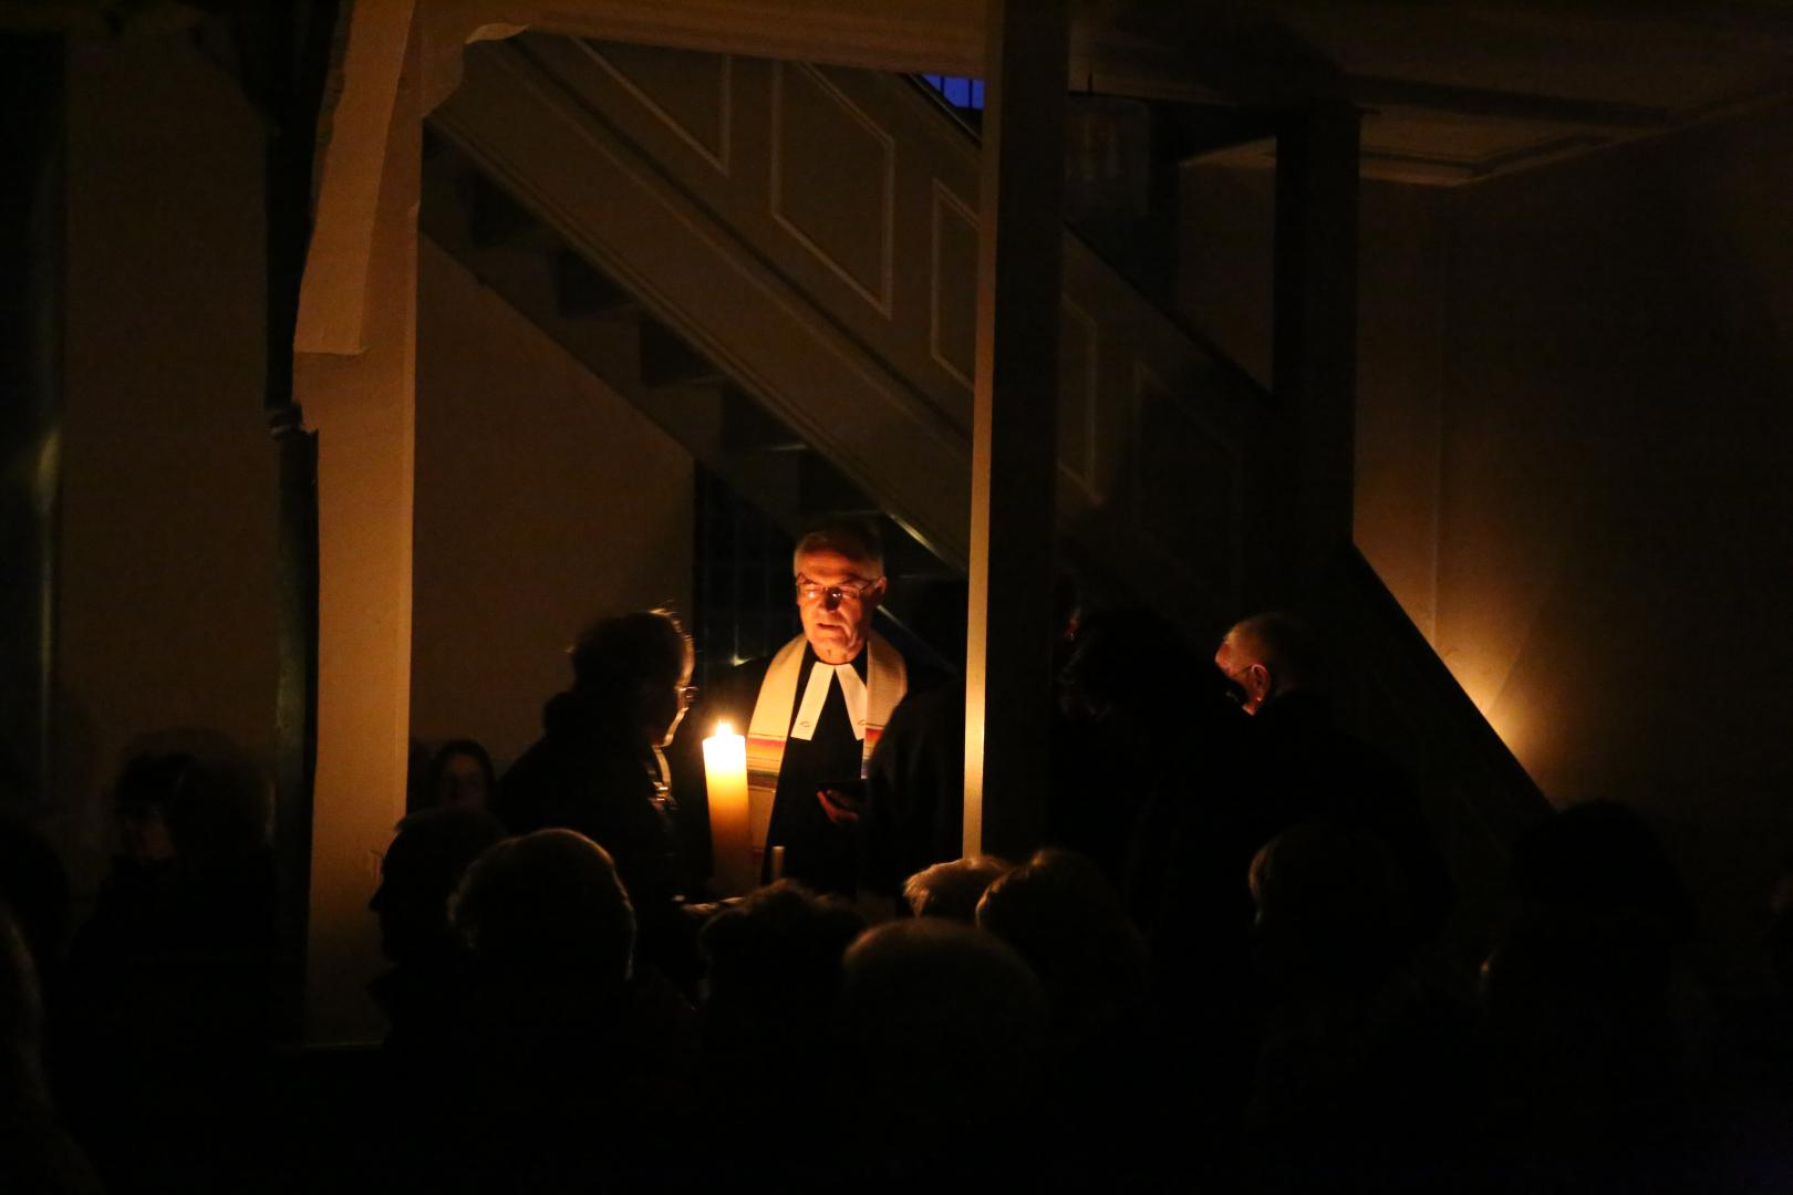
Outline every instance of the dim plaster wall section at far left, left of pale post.
[(274, 450), (258, 118), (183, 34), (70, 41), (56, 815), (77, 889), (149, 733), (264, 760)]

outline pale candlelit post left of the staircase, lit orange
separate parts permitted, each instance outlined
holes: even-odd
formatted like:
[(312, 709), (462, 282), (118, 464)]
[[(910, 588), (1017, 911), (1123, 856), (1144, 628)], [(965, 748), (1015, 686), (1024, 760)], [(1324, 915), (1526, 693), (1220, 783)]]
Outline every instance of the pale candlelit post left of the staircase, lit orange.
[(294, 396), (317, 428), (317, 770), (305, 993), (312, 1043), (380, 1036), (366, 993), (382, 966), (368, 898), (405, 812), (423, 131), (416, 66), (412, 39), (391, 113), (380, 115), (389, 136), (366, 258), (366, 348), (301, 351), (294, 365)]

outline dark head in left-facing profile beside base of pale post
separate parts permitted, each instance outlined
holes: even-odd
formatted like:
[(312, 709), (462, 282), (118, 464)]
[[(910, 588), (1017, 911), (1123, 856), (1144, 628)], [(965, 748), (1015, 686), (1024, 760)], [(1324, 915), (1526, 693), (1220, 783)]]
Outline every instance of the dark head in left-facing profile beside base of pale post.
[(488, 847), (504, 837), (491, 813), (443, 806), (398, 822), (380, 860), (380, 887), (368, 908), (380, 919), (380, 950), (405, 962), (448, 937), (448, 896)]

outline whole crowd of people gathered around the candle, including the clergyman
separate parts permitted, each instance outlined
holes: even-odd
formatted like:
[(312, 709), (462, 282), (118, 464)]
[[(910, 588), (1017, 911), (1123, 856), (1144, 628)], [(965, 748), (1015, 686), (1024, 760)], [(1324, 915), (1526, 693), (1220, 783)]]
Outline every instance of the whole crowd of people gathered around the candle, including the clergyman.
[[(298, 978), (267, 787), (228, 751), (129, 761), (122, 849), (72, 935), (54, 853), (7, 821), (0, 1188), (1506, 1193), (1775, 1172), (1705, 1098), (1693, 901), (1624, 806), (1538, 822), (1465, 930), (1415, 781), (1339, 727), (1304, 622), (1246, 618), (1208, 659), (1149, 613), (1067, 600), (1052, 783), (1026, 794), (1040, 849), (961, 858), (963, 684), (875, 632), (862, 529), (805, 537), (793, 573), (803, 634), (712, 693), (672, 615), (604, 618), (502, 776), (472, 740), (420, 763), (369, 892), (375, 1052), (271, 1048)], [(697, 740), (719, 717), (748, 731), (746, 894), (712, 887)], [(1764, 1023), (1793, 1025), (1782, 905)]]

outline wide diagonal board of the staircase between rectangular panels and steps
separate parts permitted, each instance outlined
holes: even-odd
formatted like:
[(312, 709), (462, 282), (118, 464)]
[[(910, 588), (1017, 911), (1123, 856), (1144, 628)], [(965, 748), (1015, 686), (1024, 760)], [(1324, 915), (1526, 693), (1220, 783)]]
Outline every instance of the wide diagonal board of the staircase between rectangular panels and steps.
[[(527, 52), (534, 45), (470, 48), (466, 79), (432, 125), (880, 507), (898, 512), (936, 555), (963, 561), (968, 444), (886, 360), (866, 353), (845, 321), (818, 317), (819, 303), (845, 296), (836, 274), (807, 251), (789, 254), (832, 281), (818, 296), (812, 279), (800, 288), (785, 260), (749, 251), (737, 226), (719, 222), (717, 206), (674, 185), (583, 97), (568, 95), (561, 77), (541, 70)], [(737, 73), (749, 73), (746, 66), (737, 63)], [(769, 229), (764, 204), (758, 213), (758, 228)], [(889, 326), (864, 306), (857, 314), (853, 331)], [(645, 408), (653, 414), (651, 403)], [(913, 460), (929, 468), (898, 464)]]

